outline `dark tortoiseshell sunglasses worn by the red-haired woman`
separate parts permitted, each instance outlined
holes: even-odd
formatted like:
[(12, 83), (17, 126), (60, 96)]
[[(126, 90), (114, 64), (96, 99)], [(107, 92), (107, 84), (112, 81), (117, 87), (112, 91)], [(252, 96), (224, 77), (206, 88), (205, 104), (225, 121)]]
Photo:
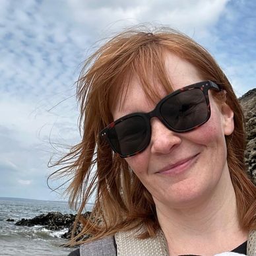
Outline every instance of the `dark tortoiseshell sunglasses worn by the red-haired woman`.
[(125, 115), (110, 123), (100, 135), (119, 156), (134, 156), (150, 143), (152, 117), (158, 117), (176, 133), (191, 131), (206, 123), (210, 118), (209, 89), (221, 90), (210, 80), (185, 86), (160, 100), (152, 112)]

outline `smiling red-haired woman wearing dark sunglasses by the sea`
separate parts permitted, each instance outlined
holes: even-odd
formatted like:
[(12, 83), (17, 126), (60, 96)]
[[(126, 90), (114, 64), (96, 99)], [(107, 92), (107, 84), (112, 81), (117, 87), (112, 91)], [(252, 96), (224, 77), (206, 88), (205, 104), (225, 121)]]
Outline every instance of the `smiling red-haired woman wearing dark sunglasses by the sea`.
[(77, 95), (82, 141), (58, 164), (73, 175), (80, 255), (256, 255), (243, 114), (204, 48), (175, 30), (127, 30), (87, 60)]

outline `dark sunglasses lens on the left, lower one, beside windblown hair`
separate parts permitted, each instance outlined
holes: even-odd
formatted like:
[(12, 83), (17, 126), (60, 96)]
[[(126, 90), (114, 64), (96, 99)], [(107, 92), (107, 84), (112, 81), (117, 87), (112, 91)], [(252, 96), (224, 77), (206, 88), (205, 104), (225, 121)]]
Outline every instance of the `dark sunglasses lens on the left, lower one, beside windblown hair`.
[(150, 131), (143, 117), (136, 115), (127, 118), (110, 129), (108, 139), (121, 156), (129, 156), (143, 149), (148, 143)]

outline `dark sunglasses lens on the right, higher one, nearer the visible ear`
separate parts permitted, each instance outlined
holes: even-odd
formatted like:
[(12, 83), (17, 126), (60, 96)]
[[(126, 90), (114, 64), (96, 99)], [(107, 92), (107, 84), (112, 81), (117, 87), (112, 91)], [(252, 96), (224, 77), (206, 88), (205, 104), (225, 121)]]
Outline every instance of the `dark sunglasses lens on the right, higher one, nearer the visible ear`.
[(201, 89), (185, 90), (162, 104), (160, 112), (165, 121), (176, 131), (187, 131), (207, 120), (208, 108)]

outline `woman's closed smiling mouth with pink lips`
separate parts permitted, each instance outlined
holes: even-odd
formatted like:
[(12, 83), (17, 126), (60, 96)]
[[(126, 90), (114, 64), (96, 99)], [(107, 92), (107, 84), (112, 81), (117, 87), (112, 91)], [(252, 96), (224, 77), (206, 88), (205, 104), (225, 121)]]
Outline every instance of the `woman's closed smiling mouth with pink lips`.
[(195, 154), (189, 158), (185, 158), (176, 162), (175, 164), (171, 164), (170, 166), (164, 167), (162, 170), (158, 171), (158, 174), (166, 174), (168, 176), (176, 176), (177, 174), (181, 174), (185, 170), (188, 170), (197, 160), (199, 154)]

